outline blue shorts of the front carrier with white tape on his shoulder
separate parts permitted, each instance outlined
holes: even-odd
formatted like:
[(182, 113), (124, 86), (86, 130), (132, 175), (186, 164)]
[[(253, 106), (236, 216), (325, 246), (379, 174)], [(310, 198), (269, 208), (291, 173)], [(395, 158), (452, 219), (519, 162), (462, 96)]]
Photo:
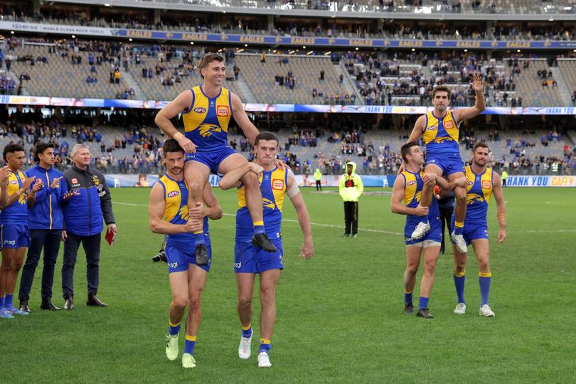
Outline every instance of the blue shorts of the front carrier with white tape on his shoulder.
[(234, 272), (236, 273), (262, 273), (267, 270), (283, 270), (282, 240), (272, 240), (276, 245), (276, 252), (266, 252), (261, 247), (252, 245), (252, 241), (236, 242), (234, 246)]

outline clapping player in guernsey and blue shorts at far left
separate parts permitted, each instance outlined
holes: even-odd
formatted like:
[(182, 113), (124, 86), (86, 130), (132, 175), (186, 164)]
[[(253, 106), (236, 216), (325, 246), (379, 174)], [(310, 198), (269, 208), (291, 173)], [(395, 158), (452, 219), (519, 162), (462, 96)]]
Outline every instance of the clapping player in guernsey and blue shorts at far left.
[(33, 205), (36, 193), (43, 187), (40, 179), (28, 177), (20, 170), (24, 165), (26, 153), (20, 144), (8, 144), (4, 147), (4, 161), (10, 174), (7, 186), (8, 201), (0, 207), (0, 225), (2, 240), (2, 263), (0, 266), (0, 317), (13, 319), (14, 314), (27, 315), (14, 307), (14, 288), (18, 272), (24, 261), (26, 247), (30, 245), (28, 230), (28, 204)]

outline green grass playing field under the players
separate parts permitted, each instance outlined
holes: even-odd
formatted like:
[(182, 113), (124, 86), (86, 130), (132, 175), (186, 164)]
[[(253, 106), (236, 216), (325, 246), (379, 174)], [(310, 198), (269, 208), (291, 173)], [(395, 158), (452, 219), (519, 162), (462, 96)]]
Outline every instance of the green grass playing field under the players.
[[(375, 191), (383, 190), (366, 190)], [(110, 308), (85, 306), (85, 258), (80, 251), (75, 309), (41, 311), (40, 265), (31, 316), (0, 319), (1, 381), (574, 382), (574, 189), (506, 189), (508, 240), (503, 245), (494, 240), (494, 202), (489, 213), (494, 276), (490, 304), (496, 318), (478, 316), (478, 269), (470, 252), (468, 313), (452, 313), (452, 256), (442, 255), (430, 299), (433, 320), (402, 314), (404, 218), (390, 213), (388, 195), (363, 196), (359, 238), (342, 239), (338, 194), (303, 193), (314, 223), (316, 253), (309, 261), (298, 257), (302, 233), (292, 205), (285, 204), (284, 272), (277, 292), (271, 369), (257, 368), (257, 343), (252, 343), (249, 361), (238, 359), (235, 193), (217, 191), (225, 216), (210, 223), (214, 256), (194, 353), (198, 367), (184, 371), (179, 359), (170, 362), (164, 355), (171, 297), (166, 265), (151, 262), (161, 236), (149, 230), (149, 190), (130, 188), (112, 191), (119, 232), (113, 247), (102, 245), (99, 297)], [(61, 265), (60, 255), (53, 297), (58, 306), (63, 304)], [(419, 282), (420, 273), (415, 292)], [(259, 311), (255, 297), (255, 314)], [(258, 334), (257, 320), (254, 326)]]

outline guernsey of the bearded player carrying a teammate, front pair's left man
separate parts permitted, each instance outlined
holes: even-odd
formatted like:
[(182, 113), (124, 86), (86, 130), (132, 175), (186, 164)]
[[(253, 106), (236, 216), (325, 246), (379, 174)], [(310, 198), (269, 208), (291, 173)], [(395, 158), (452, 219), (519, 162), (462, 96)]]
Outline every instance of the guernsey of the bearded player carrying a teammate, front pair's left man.
[[(159, 180), (162, 188), (164, 188), (164, 201), (166, 207), (164, 208), (164, 220), (172, 224), (184, 225), (188, 221), (188, 187), (186, 181), (176, 181), (167, 174), (162, 176)], [(204, 217), (203, 233), (208, 236), (208, 218)], [(194, 238), (192, 233), (176, 233), (173, 235), (166, 235), (166, 240), (169, 242), (191, 242), (193, 244)], [(193, 251), (193, 247), (191, 247)]]

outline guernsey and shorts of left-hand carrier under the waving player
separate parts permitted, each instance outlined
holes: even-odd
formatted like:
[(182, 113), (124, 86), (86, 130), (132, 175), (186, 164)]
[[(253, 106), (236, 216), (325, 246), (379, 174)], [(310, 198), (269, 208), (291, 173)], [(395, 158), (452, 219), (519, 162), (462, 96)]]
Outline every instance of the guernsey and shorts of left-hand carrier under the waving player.
[[(422, 189), (424, 188), (424, 171), (417, 173), (410, 171), (402, 171), (400, 176), (404, 178), (404, 203), (408, 208), (416, 208), (420, 204), (422, 196)], [(407, 215), (406, 225), (404, 227), (404, 240), (406, 245), (422, 242), (424, 240), (442, 241), (442, 223), (440, 222), (440, 213), (436, 198), (432, 198), (430, 210), (428, 211), (428, 222), (430, 223), (430, 232), (426, 233), (420, 239), (412, 239), (412, 232), (414, 232), (416, 225), (422, 221), (422, 217), (418, 215)]]

